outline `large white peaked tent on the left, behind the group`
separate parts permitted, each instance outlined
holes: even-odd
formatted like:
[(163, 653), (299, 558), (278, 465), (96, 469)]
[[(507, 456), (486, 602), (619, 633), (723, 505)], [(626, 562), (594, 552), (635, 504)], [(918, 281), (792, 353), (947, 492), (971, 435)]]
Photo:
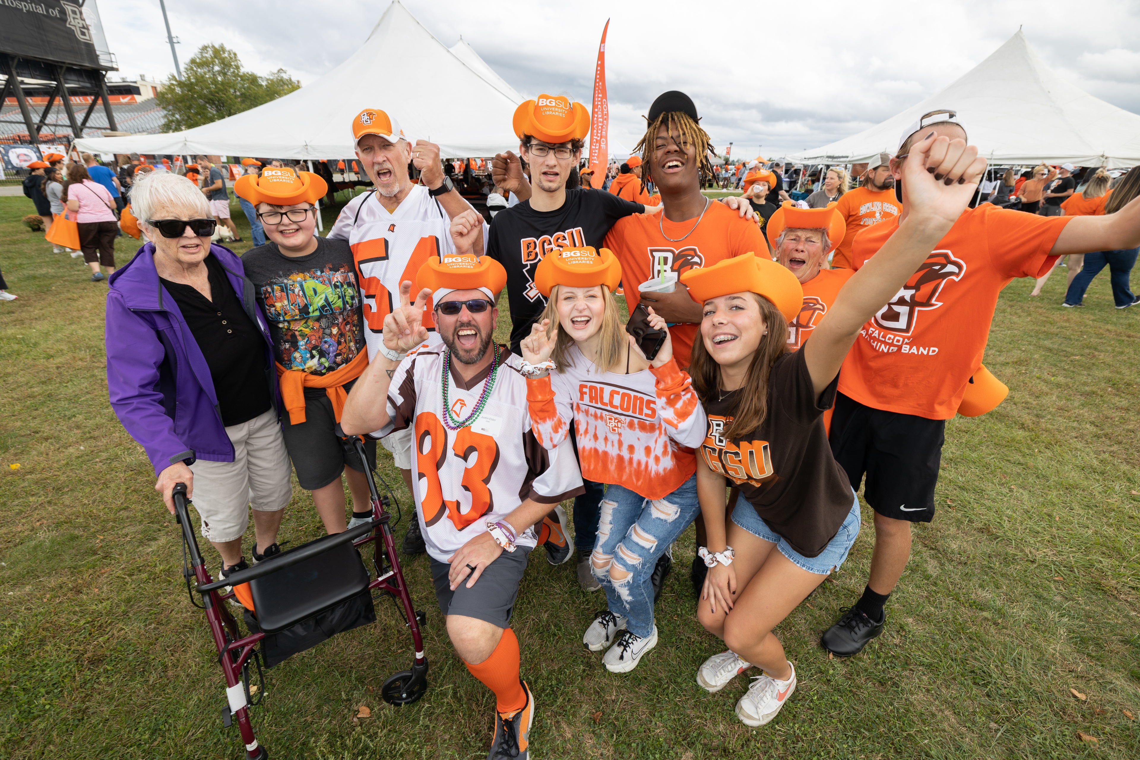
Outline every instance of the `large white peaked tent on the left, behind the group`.
[(181, 132), (75, 144), (91, 153), (345, 158), (352, 117), (372, 107), (445, 158), (492, 156), (518, 149), (511, 120), (521, 101), (466, 42), (449, 50), (396, 0), (348, 60), (300, 90)]

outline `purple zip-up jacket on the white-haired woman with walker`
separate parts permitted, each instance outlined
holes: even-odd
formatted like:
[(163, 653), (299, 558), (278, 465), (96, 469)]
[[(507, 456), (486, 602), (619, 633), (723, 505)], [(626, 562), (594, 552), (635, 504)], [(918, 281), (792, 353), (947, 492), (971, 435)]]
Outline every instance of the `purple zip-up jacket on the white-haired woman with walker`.
[[(253, 297), (253, 283), (231, 251), (211, 245), (210, 253), (221, 262), (245, 313), (266, 340), (266, 382), (279, 416), (272, 343)], [(139, 248), (130, 263), (111, 276), (108, 285), (111, 407), (142, 446), (155, 476), (179, 461), (233, 461), (234, 444), (221, 422), (210, 367), (178, 304), (158, 280), (154, 243)]]

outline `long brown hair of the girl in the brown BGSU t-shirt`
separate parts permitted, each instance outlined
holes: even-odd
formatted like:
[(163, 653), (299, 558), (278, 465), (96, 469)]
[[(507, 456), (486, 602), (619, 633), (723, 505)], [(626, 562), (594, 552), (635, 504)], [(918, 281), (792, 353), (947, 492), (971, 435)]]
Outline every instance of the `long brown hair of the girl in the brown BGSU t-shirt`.
[[(755, 431), (768, 416), (768, 376), (776, 359), (788, 351), (788, 322), (775, 305), (764, 296), (752, 294), (760, 307), (760, 318), (768, 328), (760, 337), (752, 361), (744, 374), (744, 384), (732, 410), (732, 423), (724, 431), (730, 440), (741, 439)], [(708, 406), (720, 392), (720, 365), (705, 349), (705, 338), (698, 333), (693, 341), (689, 375), (701, 403)]]

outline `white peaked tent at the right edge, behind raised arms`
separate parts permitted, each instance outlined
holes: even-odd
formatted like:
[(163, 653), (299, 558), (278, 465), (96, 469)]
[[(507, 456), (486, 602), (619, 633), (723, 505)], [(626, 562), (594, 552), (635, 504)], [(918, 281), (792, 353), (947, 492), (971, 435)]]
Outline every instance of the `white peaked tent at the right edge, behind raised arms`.
[(907, 125), (942, 108), (958, 112), (970, 144), (992, 164), (1140, 164), (1140, 116), (1059, 77), (1020, 30), (937, 95), (858, 134), (790, 158), (850, 164), (880, 152), (894, 154)]

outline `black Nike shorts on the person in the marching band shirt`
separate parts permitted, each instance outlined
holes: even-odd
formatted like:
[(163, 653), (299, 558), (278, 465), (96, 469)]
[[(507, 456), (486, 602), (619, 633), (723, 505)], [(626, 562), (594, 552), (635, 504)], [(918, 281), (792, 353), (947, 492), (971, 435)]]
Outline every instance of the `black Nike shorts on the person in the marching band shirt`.
[(928, 523), (934, 520), (946, 420), (885, 411), (836, 394), (831, 453), (863, 498), (883, 517)]

